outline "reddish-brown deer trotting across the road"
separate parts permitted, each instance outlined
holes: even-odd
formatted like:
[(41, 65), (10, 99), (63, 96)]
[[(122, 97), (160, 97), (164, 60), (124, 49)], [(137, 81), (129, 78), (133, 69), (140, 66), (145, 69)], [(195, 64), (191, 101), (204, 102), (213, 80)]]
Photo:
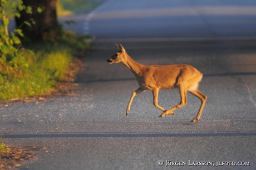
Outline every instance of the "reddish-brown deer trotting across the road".
[[(125, 48), (117, 42), (115, 43), (119, 51), (117, 51), (107, 62), (123, 63), (134, 74), (136, 81), (139, 83), (139, 88), (131, 94), (130, 101), (126, 109), (126, 116), (130, 112), (131, 103), (134, 97), (145, 91), (152, 91), (154, 106), (159, 108), (163, 113), (159, 117), (166, 115), (174, 115), (176, 109), (185, 106), (187, 101), (187, 92), (193, 94), (201, 101), (197, 116), (191, 121), (196, 122), (200, 119), (201, 113), (205, 106), (207, 97), (198, 90), (199, 82), (203, 74), (196, 68), (186, 64), (172, 64), (166, 66), (144, 66), (134, 61), (125, 51)], [(158, 104), (158, 93), (160, 89), (179, 88), (180, 103), (166, 110)]]

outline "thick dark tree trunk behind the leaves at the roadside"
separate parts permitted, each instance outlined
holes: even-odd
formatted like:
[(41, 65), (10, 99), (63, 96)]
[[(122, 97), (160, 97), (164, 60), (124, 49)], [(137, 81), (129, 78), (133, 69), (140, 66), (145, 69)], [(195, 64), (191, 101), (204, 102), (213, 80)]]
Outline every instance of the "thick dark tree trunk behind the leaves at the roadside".
[[(21, 27), (26, 38), (35, 41), (55, 41), (56, 38), (61, 37), (61, 26), (57, 22), (56, 14), (57, 0), (23, 0), (25, 6), (32, 7), (32, 14), (21, 12), (21, 17), (15, 17), (17, 28), (21, 26), (24, 21), (31, 23), (32, 27), (23, 24)], [(42, 13), (37, 12), (37, 8), (43, 8)], [(31, 18), (36, 22), (32, 24)]]

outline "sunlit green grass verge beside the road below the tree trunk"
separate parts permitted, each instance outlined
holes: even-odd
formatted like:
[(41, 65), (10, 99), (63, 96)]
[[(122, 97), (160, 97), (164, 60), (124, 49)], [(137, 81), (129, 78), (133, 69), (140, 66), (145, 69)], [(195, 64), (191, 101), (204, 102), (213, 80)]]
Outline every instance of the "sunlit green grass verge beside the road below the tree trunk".
[(55, 43), (29, 44), (35, 54), (26, 53), (24, 59), (28, 68), (21, 68), (20, 74), (0, 82), (0, 101), (25, 98), (45, 94), (55, 88), (57, 81), (65, 81), (72, 54), (89, 44), (84, 36), (65, 32), (65, 36)]

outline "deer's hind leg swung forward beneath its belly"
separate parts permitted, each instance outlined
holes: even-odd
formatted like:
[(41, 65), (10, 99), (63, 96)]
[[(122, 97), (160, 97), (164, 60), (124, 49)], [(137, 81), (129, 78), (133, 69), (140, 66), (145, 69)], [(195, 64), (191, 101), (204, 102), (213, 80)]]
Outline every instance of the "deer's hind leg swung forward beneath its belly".
[(186, 103), (188, 103), (188, 101), (186, 99), (186, 92), (188, 92), (188, 88), (180, 86), (179, 90), (180, 90), (180, 103), (177, 104), (176, 106), (174, 106), (173, 108), (170, 108), (169, 110), (165, 111), (159, 117), (165, 117), (167, 114), (174, 114), (173, 111), (175, 111), (178, 108), (183, 107), (184, 105), (186, 105)]

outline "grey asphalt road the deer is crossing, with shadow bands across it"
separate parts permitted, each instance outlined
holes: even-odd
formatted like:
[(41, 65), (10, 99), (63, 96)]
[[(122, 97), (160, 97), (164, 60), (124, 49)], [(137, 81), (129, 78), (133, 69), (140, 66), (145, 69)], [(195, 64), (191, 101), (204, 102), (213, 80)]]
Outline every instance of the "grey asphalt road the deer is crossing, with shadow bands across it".
[[(255, 11), (254, 1), (113, 0), (85, 18), (72, 16), (80, 23), (73, 31), (97, 37), (73, 87), (79, 92), (1, 104), (6, 144), (47, 148), (37, 152), (37, 161), (15, 169), (255, 169)], [(175, 116), (159, 118), (150, 91), (136, 96), (125, 116), (139, 86), (123, 64), (106, 62), (116, 41), (141, 64), (199, 69), (199, 89), (208, 97), (201, 119), (190, 122), (200, 106), (191, 94)], [(160, 91), (160, 106), (179, 102), (178, 89)], [(166, 160), (183, 166), (166, 166)], [(241, 162), (250, 165), (224, 166)]]

